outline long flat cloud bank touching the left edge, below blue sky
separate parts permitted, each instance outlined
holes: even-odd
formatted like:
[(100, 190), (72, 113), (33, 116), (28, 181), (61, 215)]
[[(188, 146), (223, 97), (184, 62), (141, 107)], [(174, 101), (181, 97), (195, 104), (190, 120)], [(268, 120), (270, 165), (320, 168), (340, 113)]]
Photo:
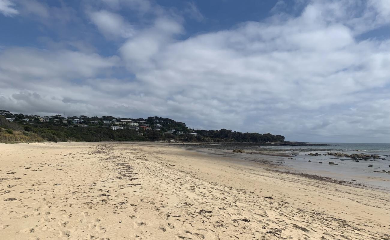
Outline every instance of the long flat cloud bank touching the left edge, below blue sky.
[(11, 48), (0, 54), (0, 71), (3, 78), (6, 76), (30, 80), (85, 78), (106, 71), (118, 62), (118, 57), (103, 58), (96, 53)]

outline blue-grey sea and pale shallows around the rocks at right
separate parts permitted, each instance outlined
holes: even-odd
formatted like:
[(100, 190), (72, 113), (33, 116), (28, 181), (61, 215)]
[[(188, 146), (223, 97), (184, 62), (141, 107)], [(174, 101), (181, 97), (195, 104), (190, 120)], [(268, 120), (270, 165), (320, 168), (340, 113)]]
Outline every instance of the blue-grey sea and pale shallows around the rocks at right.
[[(387, 173), (390, 171), (390, 144), (324, 144), (330, 144), (330, 146), (275, 146), (260, 148), (278, 149), (293, 155), (292, 159), (284, 157), (273, 161), (278, 161), (278, 163), (282, 163), (287, 168), (296, 172), (316, 174), (390, 190), (390, 173)], [(356, 162), (348, 157), (324, 156), (328, 152), (363, 153), (379, 155), (381, 158), (366, 161), (359, 160), (359, 162)], [(308, 155), (309, 153), (319, 153), (321, 156), (310, 156)], [(331, 165), (329, 162), (334, 162), (335, 165)], [(372, 165), (372, 167), (369, 167), (369, 165)]]

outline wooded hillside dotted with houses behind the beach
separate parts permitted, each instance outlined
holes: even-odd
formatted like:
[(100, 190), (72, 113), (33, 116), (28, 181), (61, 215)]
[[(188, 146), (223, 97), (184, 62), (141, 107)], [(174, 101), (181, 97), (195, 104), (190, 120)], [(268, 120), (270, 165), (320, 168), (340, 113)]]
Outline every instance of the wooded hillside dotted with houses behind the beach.
[[(168, 142), (284, 142), (282, 135), (241, 133), (232, 130), (194, 130), (183, 122), (163, 117), (119, 118), (113, 116), (38, 116), (0, 110), (2, 142), (18, 141), (36, 134), (43, 140), (58, 141), (147, 141)], [(6, 132), (8, 130), (8, 132)], [(16, 131), (15, 133), (10, 133)], [(23, 137), (25, 139), (26, 137)], [(28, 138), (28, 137), (27, 137)]]

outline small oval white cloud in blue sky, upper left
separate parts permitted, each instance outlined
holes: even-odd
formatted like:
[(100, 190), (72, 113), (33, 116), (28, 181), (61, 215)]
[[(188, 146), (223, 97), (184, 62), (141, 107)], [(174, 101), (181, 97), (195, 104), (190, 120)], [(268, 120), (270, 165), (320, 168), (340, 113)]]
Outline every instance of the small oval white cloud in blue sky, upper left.
[(90, 12), (89, 17), (99, 31), (109, 39), (116, 37), (128, 38), (134, 34), (133, 27), (119, 14), (101, 10)]

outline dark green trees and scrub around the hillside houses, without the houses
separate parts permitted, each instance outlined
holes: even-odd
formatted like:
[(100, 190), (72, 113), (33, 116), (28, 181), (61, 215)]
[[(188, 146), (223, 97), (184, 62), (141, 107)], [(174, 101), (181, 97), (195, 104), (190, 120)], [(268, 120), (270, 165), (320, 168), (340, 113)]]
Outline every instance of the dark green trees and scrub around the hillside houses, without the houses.
[[(177, 122), (173, 119), (163, 118), (163, 117), (147, 117), (144, 118), (115, 118), (113, 116), (102, 116), (102, 117), (88, 117), (88, 116), (74, 116), (69, 117), (68, 119), (83, 119), (85, 123), (95, 120), (112, 120), (117, 119), (118, 121), (122, 119), (129, 119), (133, 121), (143, 121), (146, 124), (161, 124), (161, 131), (157, 131), (155, 128), (144, 132), (140, 130), (136, 131), (133, 129), (122, 129), (122, 130), (112, 130), (103, 127), (100, 123), (98, 124), (89, 124), (87, 127), (75, 126), (70, 128), (63, 128), (62, 124), (55, 123), (54, 118), (64, 119), (60, 115), (55, 115), (50, 118), (49, 122), (41, 123), (37, 118), (34, 119), (32, 116), (27, 116), (23, 114), (12, 114), (6, 110), (0, 110), (0, 112), (5, 112), (5, 116), (0, 116), (0, 128), (3, 130), (0, 131), (1, 134), (10, 134), (10, 131), (5, 132), (5, 130), (16, 130), (23, 135), (33, 135), (39, 136), (44, 140), (52, 142), (61, 142), (61, 141), (86, 141), (86, 142), (99, 142), (99, 141), (156, 141), (156, 140), (175, 140), (175, 141), (185, 141), (185, 142), (284, 142), (285, 138), (282, 135), (273, 135), (271, 133), (241, 133), (233, 132), (232, 130), (221, 129), (221, 130), (193, 130), (186, 126), (183, 122)], [(13, 117), (14, 122), (9, 122), (5, 117)], [(26, 123), (22, 119), (24, 117), (30, 117), (32, 122)], [(34, 120), (33, 120), (34, 119)], [(169, 130), (183, 131), (183, 135), (175, 135), (171, 133), (164, 133)], [(191, 133), (197, 133), (191, 134)]]

